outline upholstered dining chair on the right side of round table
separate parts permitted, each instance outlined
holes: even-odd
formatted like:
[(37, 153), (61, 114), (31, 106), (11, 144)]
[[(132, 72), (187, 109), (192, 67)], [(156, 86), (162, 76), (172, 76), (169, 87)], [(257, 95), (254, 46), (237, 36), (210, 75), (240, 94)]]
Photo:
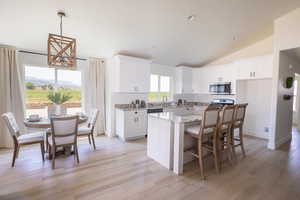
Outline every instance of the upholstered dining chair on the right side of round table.
[(84, 137), (84, 136), (86, 137), (87, 136), (89, 139), (90, 145), (91, 145), (91, 139), (92, 139), (95, 150), (96, 150), (96, 145), (95, 145), (95, 138), (94, 138), (94, 129), (95, 129), (95, 124), (97, 121), (98, 114), (99, 114), (99, 110), (96, 108), (93, 109), (89, 116), (87, 125), (79, 127), (78, 135), (77, 135), (77, 137)]

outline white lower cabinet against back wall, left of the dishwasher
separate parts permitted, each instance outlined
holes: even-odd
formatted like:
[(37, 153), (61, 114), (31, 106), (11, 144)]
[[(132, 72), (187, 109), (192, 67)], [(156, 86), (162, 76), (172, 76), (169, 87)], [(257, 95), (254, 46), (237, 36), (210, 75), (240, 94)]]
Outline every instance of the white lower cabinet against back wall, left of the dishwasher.
[(116, 133), (123, 141), (147, 135), (147, 110), (116, 109)]

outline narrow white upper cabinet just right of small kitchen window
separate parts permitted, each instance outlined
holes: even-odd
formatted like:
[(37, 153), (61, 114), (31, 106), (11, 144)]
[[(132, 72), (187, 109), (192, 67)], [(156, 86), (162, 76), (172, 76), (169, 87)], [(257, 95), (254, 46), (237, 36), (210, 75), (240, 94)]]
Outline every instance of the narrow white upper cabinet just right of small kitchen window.
[(178, 66), (175, 69), (175, 93), (193, 93), (193, 68)]

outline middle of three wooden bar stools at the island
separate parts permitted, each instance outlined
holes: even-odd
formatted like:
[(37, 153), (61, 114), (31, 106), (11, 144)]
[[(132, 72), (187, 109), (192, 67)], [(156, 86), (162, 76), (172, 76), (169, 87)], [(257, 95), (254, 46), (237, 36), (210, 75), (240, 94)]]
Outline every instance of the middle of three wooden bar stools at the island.
[(232, 127), (234, 122), (234, 105), (225, 105), (221, 111), (221, 119), (218, 128), (220, 141), (219, 152), (226, 152), (228, 160), (232, 163), (233, 147), (232, 147)]

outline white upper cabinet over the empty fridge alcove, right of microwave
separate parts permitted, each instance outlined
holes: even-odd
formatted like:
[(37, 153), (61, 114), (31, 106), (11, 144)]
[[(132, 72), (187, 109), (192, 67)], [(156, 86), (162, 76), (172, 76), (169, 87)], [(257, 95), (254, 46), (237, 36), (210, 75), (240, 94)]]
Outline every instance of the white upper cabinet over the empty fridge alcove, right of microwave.
[(237, 60), (237, 80), (272, 78), (273, 56), (259, 56)]

